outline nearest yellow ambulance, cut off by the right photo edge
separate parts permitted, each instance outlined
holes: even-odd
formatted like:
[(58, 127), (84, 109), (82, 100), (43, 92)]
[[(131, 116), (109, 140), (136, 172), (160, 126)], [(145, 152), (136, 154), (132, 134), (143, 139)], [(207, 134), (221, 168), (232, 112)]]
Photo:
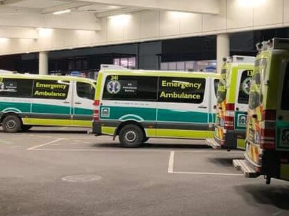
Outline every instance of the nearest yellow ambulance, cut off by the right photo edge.
[(233, 165), (246, 177), (289, 180), (289, 39), (262, 43), (250, 87), (246, 152)]

